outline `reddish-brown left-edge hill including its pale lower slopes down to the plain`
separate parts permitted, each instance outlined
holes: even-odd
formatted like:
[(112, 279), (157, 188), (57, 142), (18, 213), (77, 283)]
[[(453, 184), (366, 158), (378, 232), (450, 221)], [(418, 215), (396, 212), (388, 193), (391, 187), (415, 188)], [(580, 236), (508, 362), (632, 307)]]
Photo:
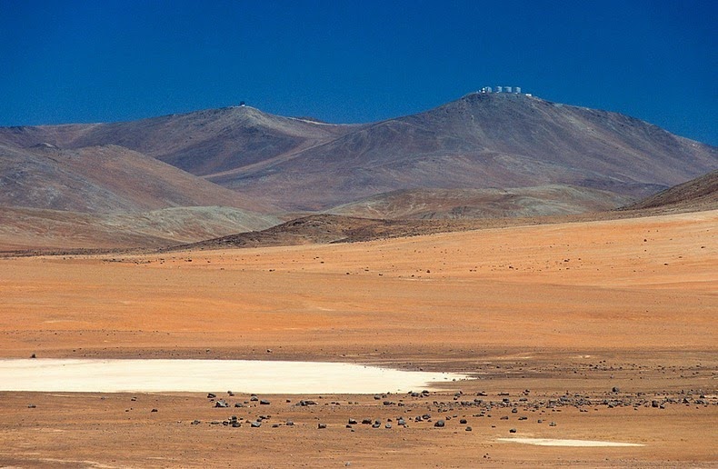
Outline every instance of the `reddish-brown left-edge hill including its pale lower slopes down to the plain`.
[(0, 251), (191, 243), (275, 210), (121, 146), (0, 145)]

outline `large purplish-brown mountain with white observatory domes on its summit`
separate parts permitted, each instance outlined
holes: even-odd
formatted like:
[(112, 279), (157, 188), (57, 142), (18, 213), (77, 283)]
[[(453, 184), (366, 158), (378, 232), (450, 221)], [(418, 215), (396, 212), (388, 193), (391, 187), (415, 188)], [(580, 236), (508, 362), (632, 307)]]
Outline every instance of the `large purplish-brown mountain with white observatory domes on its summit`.
[(716, 148), (624, 115), (471, 94), (366, 125), (276, 165), (210, 179), (291, 209), (398, 189), (579, 185), (634, 198), (718, 167)]

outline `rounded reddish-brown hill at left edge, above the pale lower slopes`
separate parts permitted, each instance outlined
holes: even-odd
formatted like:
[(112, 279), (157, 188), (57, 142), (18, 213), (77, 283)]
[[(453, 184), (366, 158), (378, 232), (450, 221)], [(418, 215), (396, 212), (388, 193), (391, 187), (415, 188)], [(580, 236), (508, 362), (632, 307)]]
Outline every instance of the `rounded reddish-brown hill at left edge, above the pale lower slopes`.
[(265, 205), (116, 145), (61, 150), (0, 146), (0, 205), (75, 212), (145, 212), (173, 206)]

